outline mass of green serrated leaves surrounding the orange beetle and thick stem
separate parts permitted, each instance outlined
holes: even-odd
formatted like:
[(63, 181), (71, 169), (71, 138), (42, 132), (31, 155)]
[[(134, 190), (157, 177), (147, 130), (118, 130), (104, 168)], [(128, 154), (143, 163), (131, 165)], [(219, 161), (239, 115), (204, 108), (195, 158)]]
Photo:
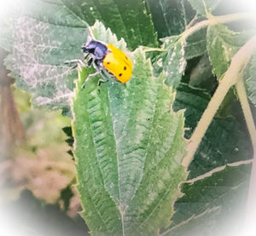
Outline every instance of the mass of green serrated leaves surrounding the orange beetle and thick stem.
[[(32, 94), (34, 106), (73, 116), (73, 137), (63, 130), (91, 235), (200, 235), (199, 227), (201, 235), (224, 235), (224, 218), (243, 219), (252, 146), (232, 90), (193, 161), (182, 164), (185, 139), (255, 34), (225, 24), (247, 14), (212, 15), (223, 1), (23, 1), (1, 24), (16, 86)], [(80, 89), (94, 69), (65, 62), (83, 58), (89, 34), (131, 58), (128, 83), (98, 87), (97, 76)], [(255, 104), (255, 55), (244, 66)]]

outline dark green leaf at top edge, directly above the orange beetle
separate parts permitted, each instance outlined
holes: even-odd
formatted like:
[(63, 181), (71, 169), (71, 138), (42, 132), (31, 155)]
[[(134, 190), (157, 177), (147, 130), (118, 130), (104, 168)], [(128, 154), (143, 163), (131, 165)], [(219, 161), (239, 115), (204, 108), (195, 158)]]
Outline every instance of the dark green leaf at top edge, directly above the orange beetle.
[(111, 28), (119, 38), (124, 37), (129, 48), (138, 45), (156, 47), (157, 35), (151, 15), (144, 1), (137, 0), (99, 0), (99, 1), (68, 1), (62, 0), (74, 14), (93, 25), (100, 20)]

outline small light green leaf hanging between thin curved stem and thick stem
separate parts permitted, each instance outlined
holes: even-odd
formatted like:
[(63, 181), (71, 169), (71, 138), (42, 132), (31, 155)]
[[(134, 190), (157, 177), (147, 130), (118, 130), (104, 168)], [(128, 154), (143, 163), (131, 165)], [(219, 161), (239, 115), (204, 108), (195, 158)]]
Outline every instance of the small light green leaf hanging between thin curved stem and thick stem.
[(238, 49), (253, 36), (253, 31), (233, 32), (227, 26), (209, 26), (207, 29), (207, 52), (213, 73), (221, 78), (230, 66)]

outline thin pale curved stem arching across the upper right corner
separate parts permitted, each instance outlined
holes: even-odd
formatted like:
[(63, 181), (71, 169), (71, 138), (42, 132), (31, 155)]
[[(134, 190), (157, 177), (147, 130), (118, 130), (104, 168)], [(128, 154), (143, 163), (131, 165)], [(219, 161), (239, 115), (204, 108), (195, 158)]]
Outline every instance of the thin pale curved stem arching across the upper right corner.
[(195, 26), (192, 26), (185, 30), (182, 33), (181, 40), (185, 40), (191, 34), (201, 30), (204, 27), (229, 23), (236, 20), (256, 20), (256, 16), (254, 14), (247, 13), (225, 14), (220, 16), (211, 15), (208, 20), (202, 20), (199, 23), (195, 24)]

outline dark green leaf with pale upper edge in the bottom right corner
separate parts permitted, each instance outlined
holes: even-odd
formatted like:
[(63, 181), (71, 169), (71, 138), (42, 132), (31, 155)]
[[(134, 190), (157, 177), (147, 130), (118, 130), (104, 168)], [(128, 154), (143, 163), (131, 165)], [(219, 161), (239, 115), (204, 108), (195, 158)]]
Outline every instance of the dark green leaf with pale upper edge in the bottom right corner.
[(236, 235), (245, 218), (251, 164), (212, 170), (183, 184), (166, 236)]

